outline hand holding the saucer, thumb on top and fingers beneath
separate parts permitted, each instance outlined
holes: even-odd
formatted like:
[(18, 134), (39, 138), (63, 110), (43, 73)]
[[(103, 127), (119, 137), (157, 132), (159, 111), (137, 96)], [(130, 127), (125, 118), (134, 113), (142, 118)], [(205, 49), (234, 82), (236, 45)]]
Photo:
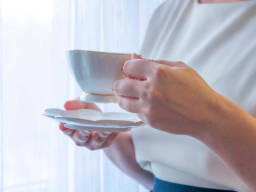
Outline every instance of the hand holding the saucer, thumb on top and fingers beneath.
[[(85, 103), (79, 99), (69, 100), (64, 104), (66, 110), (74, 109), (93, 109), (101, 111), (94, 103)], [(59, 124), (59, 128), (63, 133), (70, 136), (78, 146), (87, 147), (90, 150), (102, 149), (110, 146), (116, 139), (119, 133), (112, 132), (88, 132), (83, 130), (68, 129), (63, 123)]]

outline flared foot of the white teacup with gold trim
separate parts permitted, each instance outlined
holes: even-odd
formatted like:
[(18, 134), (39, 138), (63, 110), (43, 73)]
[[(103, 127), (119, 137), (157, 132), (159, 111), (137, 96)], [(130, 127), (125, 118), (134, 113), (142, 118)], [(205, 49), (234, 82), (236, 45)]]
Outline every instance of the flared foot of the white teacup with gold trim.
[(83, 93), (80, 97), (80, 100), (88, 103), (118, 103), (118, 98), (115, 95), (97, 95)]

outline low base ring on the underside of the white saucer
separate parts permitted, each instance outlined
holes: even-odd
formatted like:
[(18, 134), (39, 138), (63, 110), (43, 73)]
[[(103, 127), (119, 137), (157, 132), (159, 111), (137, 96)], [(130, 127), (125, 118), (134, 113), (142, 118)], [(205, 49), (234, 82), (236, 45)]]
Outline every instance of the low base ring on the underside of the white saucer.
[(85, 130), (85, 131), (97, 131), (97, 132), (128, 132), (132, 128), (127, 127), (90, 127), (90, 126), (82, 126), (82, 125), (71, 125), (71, 124), (64, 124), (64, 127), (69, 129), (76, 129), (76, 130)]

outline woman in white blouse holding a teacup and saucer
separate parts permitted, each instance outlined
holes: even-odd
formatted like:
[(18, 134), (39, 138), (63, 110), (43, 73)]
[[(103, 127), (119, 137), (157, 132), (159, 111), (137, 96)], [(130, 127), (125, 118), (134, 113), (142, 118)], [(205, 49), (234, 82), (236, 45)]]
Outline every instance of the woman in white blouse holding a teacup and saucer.
[[(141, 48), (159, 60), (133, 54), (129, 79), (114, 86), (119, 106), (147, 125), (120, 134), (60, 129), (77, 145), (103, 148), (154, 192), (256, 191), (255, 23), (255, 0), (166, 1)], [(65, 103), (78, 108), (99, 110)]]

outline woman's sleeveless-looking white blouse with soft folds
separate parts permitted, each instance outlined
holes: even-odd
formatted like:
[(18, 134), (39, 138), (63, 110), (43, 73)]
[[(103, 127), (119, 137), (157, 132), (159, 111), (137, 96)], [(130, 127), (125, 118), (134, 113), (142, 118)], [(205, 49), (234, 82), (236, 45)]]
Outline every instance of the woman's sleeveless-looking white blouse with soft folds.
[[(256, 0), (168, 0), (153, 14), (144, 58), (181, 60), (219, 94), (256, 117)], [(158, 179), (250, 192), (203, 143), (149, 126), (132, 129), (137, 162)]]

